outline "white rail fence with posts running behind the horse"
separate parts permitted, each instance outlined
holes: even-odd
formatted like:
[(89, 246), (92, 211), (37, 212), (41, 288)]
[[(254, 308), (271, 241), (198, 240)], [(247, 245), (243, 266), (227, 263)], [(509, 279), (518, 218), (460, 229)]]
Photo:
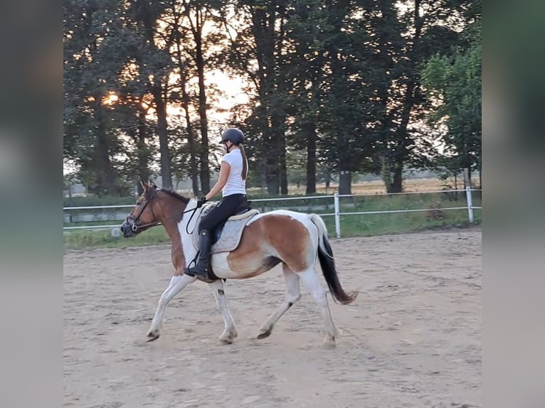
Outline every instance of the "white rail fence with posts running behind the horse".
[[(482, 207), (473, 205), (472, 192), (481, 191), (480, 189), (467, 187), (464, 190), (438, 190), (438, 191), (410, 191), (406, 193), (389, 193), (389, 194), (350, 194), (350, 195), (339, 195), (335, 193), (334, 195), (305, 195), (298, 197), (283, 197), (283, 198), (258, 198), (251, 199), (252, 203), (260, 202), (269, 202), (269, 201), (286, 201), (286, 200), (312, 200), (312, 199), (329, 199), (333, 200), (333, 213), (320, 213), (321, 217), (334, 217), (335, 218), (335, 235), (337, 238), (341, 237), (341, 217), (342, 215), (371, 215), (371, 214), (389, 214), (389, 213), (415, 213), (423, 211), (433, 211), (433, 210), (467, 210), (467, 219), (469, 222), (475, 221), (474, 211), (481, 210)], [(465, 192), (466, 205), (461, 207), (448, 207), (448, 208), (418, 208), (418, 209), (405, 209), (405, 210), (382, 210), (382, 211), (341, 211), (340, 198), (343, 197), (364, 197), (372, 196), (379, 197), (381, 195), (409, 195), (409, 194), (426, 194), (426, 193), (462, 193)], [(100, 209), (113, 209), (113, 208), (133, 208), (134, 205), (93, 205), (93, 206), (83, 206), (83, 207), (64, 207), (64, 211), (70, 210), (100, 210)], [(253, 207), (258, 207), (253, 205)], [(63, 227), (63, 230), (96, 230), (96, 229), (107, 229), (112, 227), (120, 227), (120, 221), (117, 224), (113, 225), (80, 225), (73, 227)]]

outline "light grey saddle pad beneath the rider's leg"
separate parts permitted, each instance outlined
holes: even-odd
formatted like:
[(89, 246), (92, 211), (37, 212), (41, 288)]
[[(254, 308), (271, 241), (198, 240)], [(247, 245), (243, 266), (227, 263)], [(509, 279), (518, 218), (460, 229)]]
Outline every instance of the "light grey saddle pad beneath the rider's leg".
[[(212, 208), (216, 207), (218, 203), (211, 202), (203, 205), (203, 211), (201, 212), (200, 219), (208, 214)], [(260, 212), (255, 208), (251, 208), (251, 202), (248, 201), (245, 205), (238, 208), (234, 215), (231, 215), (225, 222), (222, 222), (217, 227), (211, 230), (212, 247), (210, 254), (218, 254), (219, 252), (231, 252), (234, 251), (238, 244), (240, 244), (240, 238), (244, 227), (252, 220), (255, 215)], [(193, 245), (195, 249), (199, 249), (199, 240), (201, 237), (199, 234), (193, 234)]]

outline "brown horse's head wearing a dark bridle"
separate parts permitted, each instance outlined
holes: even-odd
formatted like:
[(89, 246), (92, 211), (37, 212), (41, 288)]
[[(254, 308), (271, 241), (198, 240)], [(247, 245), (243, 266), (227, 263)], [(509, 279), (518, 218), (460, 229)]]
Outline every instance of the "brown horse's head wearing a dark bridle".
[(134, 205), (125, 222), (121, 225), (121, 231), (125, 238), (135, 237), (140, 232), (161, 222), (158, 218), (158, 216), (161, 216), (161, 209), (154, 205), (154, 201), (156, 201), (154, 198), (156, 198), (159, 191), (157, 186), (153, 181), (149, 184), (140, 181), (140, 184), (142, 184), (144, 193), (140, 195), (136, 205)]

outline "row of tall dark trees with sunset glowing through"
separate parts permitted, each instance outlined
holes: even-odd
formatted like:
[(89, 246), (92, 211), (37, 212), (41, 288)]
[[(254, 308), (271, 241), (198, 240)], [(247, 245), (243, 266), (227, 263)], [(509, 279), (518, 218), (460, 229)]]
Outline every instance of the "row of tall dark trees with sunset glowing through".
[(480, 15), (460, 0), (65, 1), (65, 163), (88, 193), (154, 176), (199, 193), (236, 126), (249, 186), (270, 194), (315, 193), (323, 174), (351, 193), (354, 173), (398, 192), (408, 168), (480, 171), (480, 49), (457, 57), (480, 45)]

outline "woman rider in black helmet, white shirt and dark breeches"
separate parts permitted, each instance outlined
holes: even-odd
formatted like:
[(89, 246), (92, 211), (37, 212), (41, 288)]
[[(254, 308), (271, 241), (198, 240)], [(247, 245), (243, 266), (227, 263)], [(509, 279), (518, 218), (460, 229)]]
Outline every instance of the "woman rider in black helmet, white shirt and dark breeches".
[(216, 185), (203, 198), (197, 201), (197, 208), (211, 200), (222, 191), (222, 199), (213, 207), (199, 223), (199, 259), (194, 267), (186, 268), (190, 276), (206, 277), (208, 274), (208, 258), (212, 247), (211, 230), (236, 213), (238, 208), (248, 203), (246, 198), (246, 176), (248, 161), (243, 146), (244, 134), (236, 127), (223, 131), (221, 143), (227, 154), (221, 159), (221, 168)]

